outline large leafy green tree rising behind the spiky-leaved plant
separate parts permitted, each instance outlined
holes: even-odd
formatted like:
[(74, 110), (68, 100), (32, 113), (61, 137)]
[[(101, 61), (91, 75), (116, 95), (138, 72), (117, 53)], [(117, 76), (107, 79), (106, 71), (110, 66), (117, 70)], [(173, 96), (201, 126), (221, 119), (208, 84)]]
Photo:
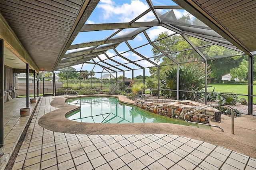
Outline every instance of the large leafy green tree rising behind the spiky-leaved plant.
[[(198, 19), (192, 20), (189, 14), (179, 18), (178, 22), (189, 25), (204, 25)], [(208, 78), (211, 78), (211, 83), (221, 80), (222, 75), (229, 73), (230, 69), (232, 69), (233, 67), (238, 67), (242, 59), (244, 59), (245, 57), (240, 55), (236, 57), (228, 57), (216, 60), (216, 58), (218, 57), (238, 55), (240, 54), (240, 52), (228, 49), (226, 47), (222, 47), (220, 45), (209, 45), (209, 42), (191, 36), (187, 37), (196, 47), (199, 47), (198, 49), (201, 51), (201, 53), (203, 53), (206, 58), (214, 59), (213, 61), (208, 60)], [(159, 34), (158, 37), (154, 40), (154, 44), (163, 51), (165, 51), (170, 57), (178, 61), (178, 63), (202, 60), (196, 50), (191, 49), (191, 45), (181, 35), (176, 34), (174, 36), (168, 36), (168, 32), (163, 32), (162, 34)], [(158, 49), (152, 48), (151, 50), (153, 52), (153, 55), (156, 56), (154, 60), (157, 62), (162, 61), (160, 63), (159, 69), (160, 79), (163, 79), (165, 76), (165, 71), (170, 70), (173, 66), (176, 67), (176, 64), (170, 58), (163, 55)], [(188, 63), (188, 65), (190, 65), (190, 63)], [(204, 64), (201, 64), (200, 67), (202, 68), (198, 67), (199, 70), (204, 70)], [(151, 75), (155, 77), (158, 75), (157, 67), (150, 67), (149, 70)]]

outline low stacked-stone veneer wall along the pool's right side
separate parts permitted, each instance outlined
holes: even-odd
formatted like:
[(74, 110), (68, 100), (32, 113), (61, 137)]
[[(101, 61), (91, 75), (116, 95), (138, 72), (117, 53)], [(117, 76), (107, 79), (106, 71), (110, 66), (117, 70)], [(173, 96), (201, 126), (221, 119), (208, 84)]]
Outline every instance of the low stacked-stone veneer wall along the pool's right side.
[[(135, 103), (146, 111), (180, 120), (184, 120), (185, 113), (206, 106), (190, 100), (170, 99), (135, 99)], [(186, 119), (192, 122), (209, 124), (210, 121), (220, 122), (220, 116), (221, 112), (218, 109), (209, 107), (186, 115)]]

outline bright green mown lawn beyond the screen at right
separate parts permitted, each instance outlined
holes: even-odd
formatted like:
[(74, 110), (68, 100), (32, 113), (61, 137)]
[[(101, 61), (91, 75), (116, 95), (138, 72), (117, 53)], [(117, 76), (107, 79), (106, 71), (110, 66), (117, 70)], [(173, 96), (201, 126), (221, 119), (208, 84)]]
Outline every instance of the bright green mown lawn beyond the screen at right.
[[(214, 89), (215, 91), (224, 93), (224, 92), (232, 92), (234, 94), (242, 94), (247, 95), (248, 94), (248, 85), (222, 85), (222, 84), (208, 84), (207, 91), (210, 92)], [(253, 95), (256, 95), (256, 91), (253, 91)], [(247, 96), (238, 96), (238, 99), (245, 98), (248, 100)], [(253, 97), (253, 103), (256, 104), (256, 97)]]

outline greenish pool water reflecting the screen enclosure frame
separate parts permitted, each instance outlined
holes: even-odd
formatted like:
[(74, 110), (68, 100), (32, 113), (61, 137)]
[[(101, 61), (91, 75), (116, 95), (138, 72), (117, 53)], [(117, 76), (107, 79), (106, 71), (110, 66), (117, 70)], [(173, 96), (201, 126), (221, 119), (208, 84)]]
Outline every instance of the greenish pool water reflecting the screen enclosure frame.
[(84, 97), (68, 99), (69, 105), (81, 109), (66, 116), (67, 119), (87, 123), (173, 123), (210, 129), (208, 126), (157, 115), (133, 105), (120, 103), (114, 97)]

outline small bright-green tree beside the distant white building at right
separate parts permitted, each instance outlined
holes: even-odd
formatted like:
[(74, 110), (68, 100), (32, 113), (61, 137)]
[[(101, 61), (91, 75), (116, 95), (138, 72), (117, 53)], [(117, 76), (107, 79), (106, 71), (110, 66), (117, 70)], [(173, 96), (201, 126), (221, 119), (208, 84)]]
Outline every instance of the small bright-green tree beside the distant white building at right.
[(238, 67), (230, 69), (230, 74), (232, 75), (232, 79), (245, 79), (248, 73), (248, 61), (245, 59), (242, 60), (241, 64)]

